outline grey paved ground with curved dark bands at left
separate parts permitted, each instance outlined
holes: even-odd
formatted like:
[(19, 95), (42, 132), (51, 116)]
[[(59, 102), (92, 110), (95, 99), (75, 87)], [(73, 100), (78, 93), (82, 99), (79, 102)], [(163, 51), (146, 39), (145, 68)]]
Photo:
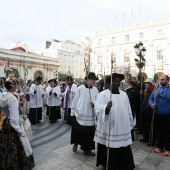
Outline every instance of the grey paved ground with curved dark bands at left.
[[(44, 116), (44, 121), (32, 126), (32, 129), (34, 140), (31, 145), (36, 162), (34, 170), (104, 170), (95, 166), (96, 156), (84, 156), (80, 149), (72, 152), (71, 127), (61, 120), (50, 124)], [(135, 141), (131, 147), (136, 170), (170, 170), (170, 157), (163, 156), (163, 153), (155, 154), (146, 143)]]

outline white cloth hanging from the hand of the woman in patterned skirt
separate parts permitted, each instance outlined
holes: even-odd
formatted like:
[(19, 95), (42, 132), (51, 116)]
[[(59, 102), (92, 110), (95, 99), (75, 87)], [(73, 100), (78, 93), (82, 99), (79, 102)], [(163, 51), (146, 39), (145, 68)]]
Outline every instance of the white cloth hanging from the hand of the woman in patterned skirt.
[(30, 155), (32, 155), (32, 148), (25, 134), (20, 137), (20, 141), (22, 143), (26, 156), (29, 157)]

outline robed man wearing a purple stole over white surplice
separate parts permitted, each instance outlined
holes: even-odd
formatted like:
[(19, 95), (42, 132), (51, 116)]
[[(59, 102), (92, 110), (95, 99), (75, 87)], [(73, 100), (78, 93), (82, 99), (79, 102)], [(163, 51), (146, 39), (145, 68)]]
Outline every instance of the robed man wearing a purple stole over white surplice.
[(64, 97), (64, 120), (67, 121), (67, 124), (72, 125), (73, 117), (71, 114), (71, 105), (73, 102), (73, 98), (75, 95), (75, 91), (77, 90), (77, 85), (73, 82), (72, 76), (67, 76), (67, 87), (65, 92), (63, 93)]

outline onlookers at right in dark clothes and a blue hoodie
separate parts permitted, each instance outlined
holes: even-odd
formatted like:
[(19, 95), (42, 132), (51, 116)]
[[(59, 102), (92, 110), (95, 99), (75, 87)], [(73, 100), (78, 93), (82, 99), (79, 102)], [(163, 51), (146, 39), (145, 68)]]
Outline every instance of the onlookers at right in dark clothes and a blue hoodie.
[[(141, 77), (131, 77), (126, 87), (121, 90), (129, 97), (133, 118), (136, 125), (132, 129), (132, 139), (136, 134), (142, 134), (140, 142), (147, 146), (156, 146), (155, 153), (164, 151), (170, 156), (170, 85), (169, 76), (162, 75), (160, 84), (156, 85), (152, 78), (140, 81)], [(107, 86), (104, 79), (96, 81), (99, 92)], [(138, 137), (138, 135), (136, 135)]]

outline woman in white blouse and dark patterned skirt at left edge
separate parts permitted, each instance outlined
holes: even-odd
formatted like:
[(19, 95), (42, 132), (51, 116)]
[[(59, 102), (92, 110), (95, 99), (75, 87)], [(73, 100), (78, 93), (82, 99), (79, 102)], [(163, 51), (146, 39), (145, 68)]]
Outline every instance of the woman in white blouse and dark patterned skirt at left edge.
[(0, 116), (2, 129), (0, 131), (0, 169), (31, 170), (34, 164), (33, 155), (27, 157), (21, 144), (22, 136), (19, 126), (18, 101), (13, 95), (16, 82), (9, 79), (5, 82), (7, 92), (0, 95)]

